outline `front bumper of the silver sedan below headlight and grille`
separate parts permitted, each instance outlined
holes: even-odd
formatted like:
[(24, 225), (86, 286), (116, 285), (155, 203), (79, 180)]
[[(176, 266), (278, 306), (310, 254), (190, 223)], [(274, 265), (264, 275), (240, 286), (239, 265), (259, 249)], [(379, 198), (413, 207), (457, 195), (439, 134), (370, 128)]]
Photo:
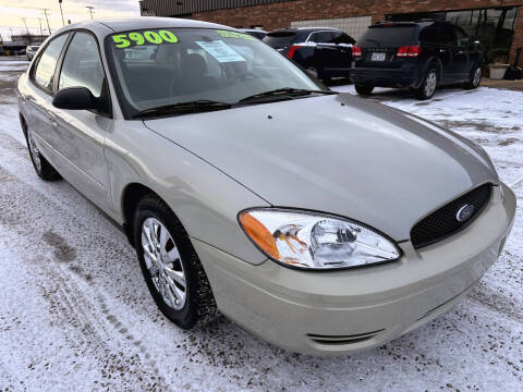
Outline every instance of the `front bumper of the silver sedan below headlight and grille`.
[(332, 272), (252, 266), (193, 243), (230, 319), (293, 352), (343, 354), (381, 345), (452, 307), (498, 258), (514, 213), (514, 194), (501, 184), (462, 232), (418, 250), (402, 243), (396, 262)]

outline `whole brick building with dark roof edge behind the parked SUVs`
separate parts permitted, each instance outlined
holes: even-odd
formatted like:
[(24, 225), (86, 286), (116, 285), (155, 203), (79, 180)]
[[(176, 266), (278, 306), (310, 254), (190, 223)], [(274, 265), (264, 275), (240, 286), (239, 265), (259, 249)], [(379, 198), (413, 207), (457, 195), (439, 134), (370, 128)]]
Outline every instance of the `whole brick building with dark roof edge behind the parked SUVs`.
[(431, 17), (460, 25), (484, 45), (490, 61), (512, 62), (523, 47), (523, 0), (142, 0), (139, 5), (142, 15), (266, 30), (330, 26), (356, 39), (376, 21)]

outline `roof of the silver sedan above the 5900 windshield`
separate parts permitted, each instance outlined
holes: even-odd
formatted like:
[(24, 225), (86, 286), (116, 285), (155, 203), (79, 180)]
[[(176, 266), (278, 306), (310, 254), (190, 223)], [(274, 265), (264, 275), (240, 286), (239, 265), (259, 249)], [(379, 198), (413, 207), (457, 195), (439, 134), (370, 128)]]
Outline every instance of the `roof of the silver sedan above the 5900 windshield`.
[(102, 30), (106, 30), (107, 34), (112, 34), (117, 32), (125, 32), (125, 30), (132, 30), (132, 29), (143, 29), (143, 28), (158, 28), (158, 27), (234, 29), (232, 27), (216, 24), (216, 23), (193, 21), (193, 20), (186, 20), (186, 19), (139, 16), (139, 17), (129, 17), (129, 19), (84, 21), (84, 22), (66, 25), (65, 27), (60, 28), (57, 33), (62, 33), (62, 32), (76, 29), (76, 28), (86, 28), (93, 32), (101, 33)]

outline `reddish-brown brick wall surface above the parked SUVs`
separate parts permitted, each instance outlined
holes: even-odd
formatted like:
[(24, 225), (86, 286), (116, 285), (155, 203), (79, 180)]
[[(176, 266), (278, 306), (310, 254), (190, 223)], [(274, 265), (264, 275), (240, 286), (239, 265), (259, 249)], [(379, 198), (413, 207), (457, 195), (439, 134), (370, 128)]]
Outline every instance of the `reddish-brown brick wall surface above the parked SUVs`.
[[(385, 15), (390, 13), (450, 11), (511, 5), (521, 7), (515, 22), (514, 40), (510, 53), (510, 61), (513, 61), (515, 48), (523, 47), (522, 0), (295, 0), (234, 10), (194, 13), (191, 17), (234, 27), (264, 26), (265, 29), (271, 30), (288, 27), (295, 21), (370, 16), (372, 21), (376, 22), (385, 20)], [(523, 58), (520, 59), (520, 64), (522, 63)]]

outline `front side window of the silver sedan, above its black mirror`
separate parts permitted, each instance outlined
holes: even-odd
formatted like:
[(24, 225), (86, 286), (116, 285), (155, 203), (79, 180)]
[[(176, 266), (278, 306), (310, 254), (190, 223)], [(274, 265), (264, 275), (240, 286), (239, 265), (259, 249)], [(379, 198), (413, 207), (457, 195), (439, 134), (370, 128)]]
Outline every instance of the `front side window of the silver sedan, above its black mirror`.
[(58, 88), (87, 87), (99, 97), (102, 84), (104, 70), (95, 38), (87, 33), (75, 33), (63, 58)]

